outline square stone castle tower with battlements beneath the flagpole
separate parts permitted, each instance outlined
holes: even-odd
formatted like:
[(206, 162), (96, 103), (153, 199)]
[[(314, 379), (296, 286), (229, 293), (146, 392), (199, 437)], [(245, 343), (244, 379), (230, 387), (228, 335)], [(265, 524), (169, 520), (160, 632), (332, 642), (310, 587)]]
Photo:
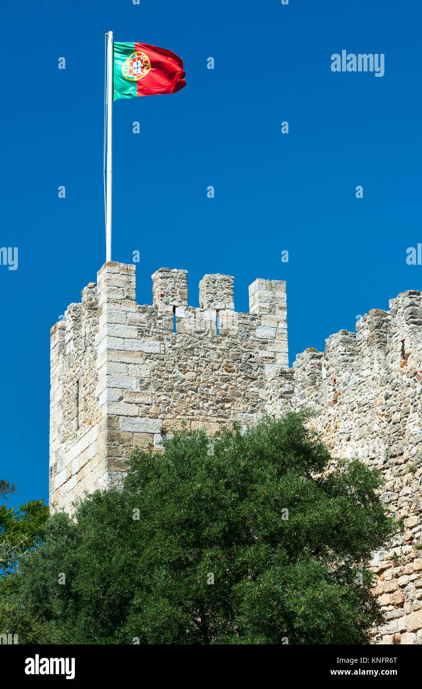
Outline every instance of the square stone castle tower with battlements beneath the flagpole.
[(134, 446), (159, 448), (184, 421), (209, 435), (265, 412), (268, 381), (288, 366), (285, 282), (255, 280), (250, 313), (233, 278), (205, 275), (199, 309), (187, 271), (152, 276), (135, 300), (135, 267), (106, 263), (51, 331), (50, 504), (121, 483)]

